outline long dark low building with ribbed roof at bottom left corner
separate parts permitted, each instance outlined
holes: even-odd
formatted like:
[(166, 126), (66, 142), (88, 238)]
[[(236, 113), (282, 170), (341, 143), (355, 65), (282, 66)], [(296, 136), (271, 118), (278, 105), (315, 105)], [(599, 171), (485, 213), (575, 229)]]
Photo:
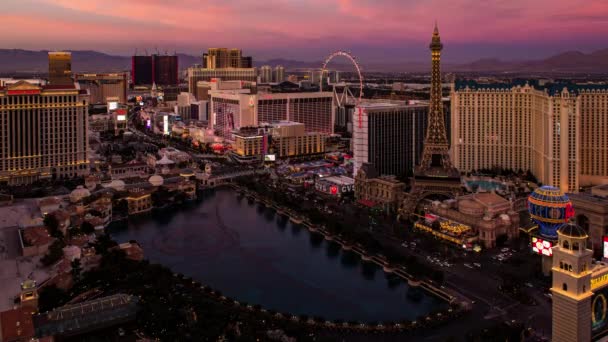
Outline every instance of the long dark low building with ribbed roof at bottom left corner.
[(119, 293), (35, 315), (34, 329), (36, 336), (74, 337), (132, 321), (137, 310), (137, 297)]

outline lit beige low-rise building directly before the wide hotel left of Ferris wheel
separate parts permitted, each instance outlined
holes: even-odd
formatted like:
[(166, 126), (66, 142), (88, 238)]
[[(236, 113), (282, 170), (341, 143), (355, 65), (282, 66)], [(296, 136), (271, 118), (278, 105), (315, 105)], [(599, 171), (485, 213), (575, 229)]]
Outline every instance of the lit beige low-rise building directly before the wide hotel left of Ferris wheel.
[[(233, 155), (241, 160), (262, 160), (320, 155), (325, 153), (326, 135), (306, 132), (304, 124), (278, 121), (246, 127), (233, 133)], [(267, 158), (267, 156), (269, 156)]]

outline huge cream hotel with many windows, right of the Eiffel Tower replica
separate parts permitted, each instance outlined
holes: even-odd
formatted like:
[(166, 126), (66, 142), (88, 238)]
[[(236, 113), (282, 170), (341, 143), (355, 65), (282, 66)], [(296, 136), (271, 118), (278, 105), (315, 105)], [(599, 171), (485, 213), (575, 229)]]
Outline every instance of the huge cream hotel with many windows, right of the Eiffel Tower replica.
[(451, 105), (460, 171), (530, 170), (563, 192), (608, 182), (606, 85), (457, 81)]

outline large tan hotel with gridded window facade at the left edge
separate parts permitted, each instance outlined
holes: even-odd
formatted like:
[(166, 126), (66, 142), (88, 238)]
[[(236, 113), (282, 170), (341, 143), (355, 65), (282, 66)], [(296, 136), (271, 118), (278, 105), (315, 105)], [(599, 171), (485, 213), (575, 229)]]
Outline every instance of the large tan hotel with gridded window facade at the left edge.
[(88, 102), (73, 83), (0, 88), (0, 183), (87, 174)]

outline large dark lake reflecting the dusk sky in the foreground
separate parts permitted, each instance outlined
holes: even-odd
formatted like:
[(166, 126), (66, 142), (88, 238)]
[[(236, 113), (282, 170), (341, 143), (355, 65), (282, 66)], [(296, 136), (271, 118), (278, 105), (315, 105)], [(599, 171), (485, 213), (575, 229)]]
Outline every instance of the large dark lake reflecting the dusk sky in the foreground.
[(445, 305), (424, 292), (412, 299), (398, 277), (232, 190), (113, 225), (110, 233), (137, 240), (151, 262), (281, 312), (397, 321)]

